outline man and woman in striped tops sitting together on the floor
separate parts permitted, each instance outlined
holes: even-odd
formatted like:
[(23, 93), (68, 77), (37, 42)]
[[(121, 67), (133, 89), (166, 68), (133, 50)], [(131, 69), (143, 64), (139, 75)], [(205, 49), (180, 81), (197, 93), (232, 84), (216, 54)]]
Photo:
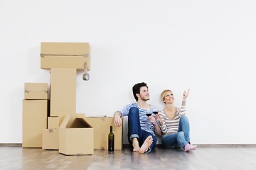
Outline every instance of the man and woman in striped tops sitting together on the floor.
[[(156, 114), (156, 107), (147, 103), (149, 89), (146, 83), (138, 83), (132, 87), (136, 103), (125, 106), (121, 111), (114, 113), (114, 124), (122, 126), (122, 117), (128, 115), (128, 140), (134, 152), (149, 153), (156, 147), (156, 135), (161, 137), (162, 145), (166, 148), (182, 147), (185, 152), (196, 149), (191, 145), (189, 138), (189, 123), (185, 115), (186, 98), (184, 91), (181, 108), (174, 106), (174, 96), (170, 90), (164, 90), (161, 98), (166, 108)], [(146, 115), (153, 113), (151, 115)]]

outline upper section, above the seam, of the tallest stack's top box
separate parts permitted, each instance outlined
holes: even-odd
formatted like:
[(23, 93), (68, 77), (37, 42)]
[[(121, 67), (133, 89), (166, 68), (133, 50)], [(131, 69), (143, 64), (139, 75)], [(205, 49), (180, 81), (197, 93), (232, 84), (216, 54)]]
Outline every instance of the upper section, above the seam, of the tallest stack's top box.
[(90, 55), (88, 42), (41, 42), (42, 55)]

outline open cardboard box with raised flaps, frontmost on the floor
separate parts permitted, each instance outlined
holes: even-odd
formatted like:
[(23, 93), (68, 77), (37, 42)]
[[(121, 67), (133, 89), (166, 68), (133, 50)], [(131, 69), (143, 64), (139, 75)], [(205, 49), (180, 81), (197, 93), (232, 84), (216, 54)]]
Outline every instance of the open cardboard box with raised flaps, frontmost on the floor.
[(66, 155), (93, 154), (93, 128), (85, 118), (65, 115), (59, 128), (59, 152)]

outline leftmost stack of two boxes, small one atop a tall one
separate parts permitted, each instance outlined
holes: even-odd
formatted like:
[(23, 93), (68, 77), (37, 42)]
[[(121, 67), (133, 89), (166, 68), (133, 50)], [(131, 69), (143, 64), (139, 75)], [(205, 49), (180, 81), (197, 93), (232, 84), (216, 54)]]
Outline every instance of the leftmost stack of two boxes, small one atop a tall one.
[(48, 84), (25, 83), (22, 147), (42, 147), (42, 129), (49, 115)]

